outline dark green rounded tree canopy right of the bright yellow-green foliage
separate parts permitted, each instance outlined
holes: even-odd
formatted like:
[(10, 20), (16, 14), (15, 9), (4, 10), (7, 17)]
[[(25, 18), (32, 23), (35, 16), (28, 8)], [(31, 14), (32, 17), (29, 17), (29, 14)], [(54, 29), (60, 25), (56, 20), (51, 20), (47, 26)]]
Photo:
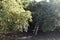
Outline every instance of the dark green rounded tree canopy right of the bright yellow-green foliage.
[(54, 4), (44, 1), (38, 3), (35, 2), (31, 3), (27, 9), (32, 12), (33, 25), (38, 23), (40, 29), (44, 32), (53, 31), (58, 25), (58, 16), (56, 15), (56, 8)]

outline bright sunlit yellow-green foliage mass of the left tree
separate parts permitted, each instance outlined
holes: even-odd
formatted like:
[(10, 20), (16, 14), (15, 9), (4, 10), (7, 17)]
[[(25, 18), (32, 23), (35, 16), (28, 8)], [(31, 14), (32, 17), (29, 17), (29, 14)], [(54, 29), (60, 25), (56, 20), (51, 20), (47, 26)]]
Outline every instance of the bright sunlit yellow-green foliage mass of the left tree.
[(12, 29), (27, 32), (32, 16), (30, 11), (24, 10), (22, 1), (2, 0), (0, 5), (0, 31)]

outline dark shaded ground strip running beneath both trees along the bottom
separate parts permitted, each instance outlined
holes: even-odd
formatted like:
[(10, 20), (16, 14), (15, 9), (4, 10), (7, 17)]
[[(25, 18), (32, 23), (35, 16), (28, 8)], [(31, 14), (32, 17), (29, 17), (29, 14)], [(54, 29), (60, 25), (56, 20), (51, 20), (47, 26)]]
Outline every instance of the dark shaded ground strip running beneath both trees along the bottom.
[(60, 40), (60, 32), (38, 32), (37, 36), (32, 36), (29, 33), (19, 33), (16, 35), (4, 36), (4, 39), (0, 40)]

